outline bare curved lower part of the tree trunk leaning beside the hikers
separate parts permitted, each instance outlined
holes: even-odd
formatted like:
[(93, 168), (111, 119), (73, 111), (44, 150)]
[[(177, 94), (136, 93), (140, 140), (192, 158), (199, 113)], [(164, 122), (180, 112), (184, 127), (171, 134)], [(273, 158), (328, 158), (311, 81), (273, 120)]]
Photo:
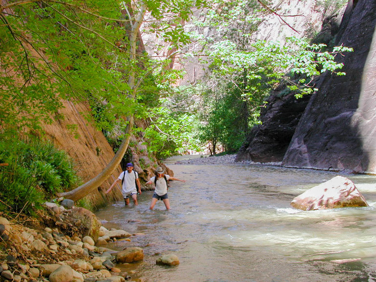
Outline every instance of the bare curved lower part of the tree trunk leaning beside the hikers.
[(119, 165), (120, 161), (122, 161), (125, 151), (128, 148), (130, 135), (132, 132), (132, 126), (133, 126), (133, 116), (130, 117), (129, 123), (126, 126), (125, 129), (125, 138), (123, 142), (121, 143), (119, 150), (116, 152), (115, 156), (112, 158), (112, 160), (107, 164), (107, 166), (104, 168), (104, 170), (98, 174), (93, 179), (87, 181), (83, 185), (77, 187), (76, 189), (64, 192), (64, 193), (58, 193), (58, 197), (64, 197), (67, 199), (71, 199), (73, 201), (80, 200), (84, 198), (87, 194), (89, 194), (94, 189), (98, 188), (104, 181), (107, 180), (107, 178), (110, 177), (112, 172), (116, 169), (116, 167)]

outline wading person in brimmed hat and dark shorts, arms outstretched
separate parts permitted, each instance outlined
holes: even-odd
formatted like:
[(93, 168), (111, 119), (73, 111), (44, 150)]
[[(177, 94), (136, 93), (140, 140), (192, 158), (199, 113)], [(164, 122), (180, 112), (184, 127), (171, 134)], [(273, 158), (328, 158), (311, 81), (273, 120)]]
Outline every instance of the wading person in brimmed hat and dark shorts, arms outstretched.
[(150, 209), (152, 210), (155, 206), (155, 203), (157, 200), (162, 200), (165, 203), (166, 209), (170, 209), (170, 202), (168, 201), (167, 196), (167, 180), (177, 180), (185, 182), (185, 180), (180, 180), (175, 177), (169, 176), (167, 174), (163, 174), (163, 168), (158, 167), (156, 176), (153, 176), (150, 178), (149, 181), (147, 181), (145, 184), (151, 184), (154, 183), (155, 190), (153, 194), (153, 198), (151, 199)]

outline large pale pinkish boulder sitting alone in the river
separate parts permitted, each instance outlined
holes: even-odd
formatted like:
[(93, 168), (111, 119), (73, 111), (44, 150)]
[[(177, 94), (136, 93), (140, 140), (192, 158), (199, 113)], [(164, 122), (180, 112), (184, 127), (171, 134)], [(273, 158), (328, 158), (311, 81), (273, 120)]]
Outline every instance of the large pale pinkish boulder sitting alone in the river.
[(291, 205), (301, 210), (368, 206), (366, 199), (346, 177), (336, 176), (295, 197)]

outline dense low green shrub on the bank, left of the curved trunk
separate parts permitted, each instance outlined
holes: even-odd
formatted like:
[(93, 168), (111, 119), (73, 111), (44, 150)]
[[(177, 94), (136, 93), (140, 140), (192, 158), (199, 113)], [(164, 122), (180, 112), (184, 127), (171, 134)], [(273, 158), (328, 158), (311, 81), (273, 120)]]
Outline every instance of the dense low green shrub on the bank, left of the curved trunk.
[(41, 140), (0, 137), (0, 212), (33, 215), (45, 199), (81, 182), (72, 160)]

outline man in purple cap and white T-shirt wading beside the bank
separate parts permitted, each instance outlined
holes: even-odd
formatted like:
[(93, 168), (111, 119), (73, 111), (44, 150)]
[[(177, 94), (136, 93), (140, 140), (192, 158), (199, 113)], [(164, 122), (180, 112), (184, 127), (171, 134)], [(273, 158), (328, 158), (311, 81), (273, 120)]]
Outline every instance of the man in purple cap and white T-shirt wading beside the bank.
[(126, 164), (126, 171), (123, 171), (119, 175), (119, 178), (112, 183), (112, 185), (106, 191), (106, 194), (109, 193), (112, 187), (115, 186), (115, 184), (120, 181), (122, 181), (122, 193), (123, 193), (125, 205), (129, 204), (130, 197), (132, 197), (134, 204), (138, 205), (136, 184), (138, 186), (138, 193), (141, 194), (141, 183), (140, 183), (140, 180), (138, 179), (138, 173), (133, 170), (132, 163), (128, 162)]

